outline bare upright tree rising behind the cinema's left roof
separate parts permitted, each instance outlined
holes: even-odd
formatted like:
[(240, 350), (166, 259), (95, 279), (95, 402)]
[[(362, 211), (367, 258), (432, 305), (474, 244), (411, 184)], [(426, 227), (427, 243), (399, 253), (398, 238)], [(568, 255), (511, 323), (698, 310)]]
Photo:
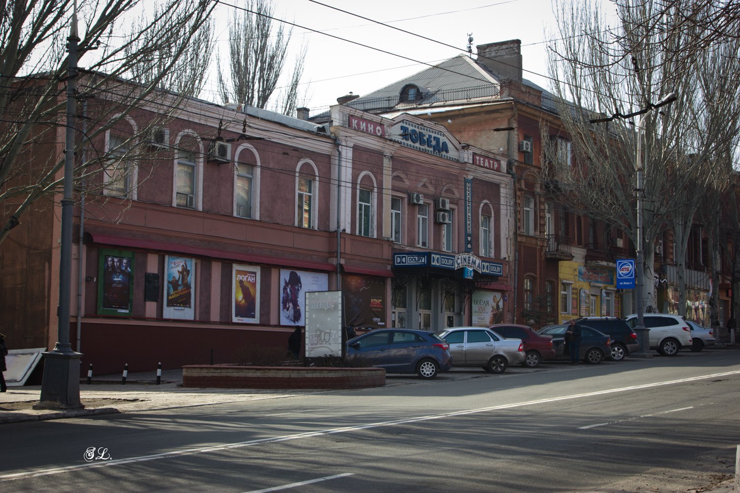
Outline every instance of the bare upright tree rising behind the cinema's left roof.
[[(306, 47), (285, 72), (292, 29), (272, 24), (275, 7), (270, 0), (249, 0), (245, 12), (229, 26), (229, 69), (218, 64), (218, 89), (223, 103), (239, 103), (290, 115), (297, 107), (298, 87), (303, 75)], [(226, 72), (224, 75), (223, 72)], [(288, 82), (275, 95), (278, 83)]]

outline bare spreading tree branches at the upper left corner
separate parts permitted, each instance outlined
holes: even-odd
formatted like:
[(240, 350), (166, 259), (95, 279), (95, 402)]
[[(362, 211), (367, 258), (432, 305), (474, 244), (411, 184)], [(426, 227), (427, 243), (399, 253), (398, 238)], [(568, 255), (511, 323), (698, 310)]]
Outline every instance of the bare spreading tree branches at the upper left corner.
[[(79, 47), (78, 98), (94, 98), (95, 110), (84, 115), (89, 129), (78, 139), (77, 148), (90, 146), (104, 132), (144, 106), (156, 104), (161, 119), (177, 112), (181, 95), (161, 94), (158, 87), (177, 69), (186, 50), (209, 18), (214, 2), (192, 3), (166, 0), (158, 15), (129, 35), (130, 45), (118, 41), (127, 33), (131, 17), (143, 0), (82, 0), (78, 7), (84, 33)], [(19, 224), (22, 215), (44, 197), (53, 197), (61, 187), (58, 171), (64, 164), (59, 152), (41, 152), (39, 142), (55, 142), (64, 126), (65, 78), (69, 62), (64, 56), (64, 38), (70, 33), (72, 0), (15, 1), (5, 4), (0, 15), (0, 203), (4, 205), (0, 243)], [(76, 35), (76, 33), (75, 33)], [(156, 72), (132, 84), (125, 77), (140, 72), (140, 61), (152, 53), (166, 53)], [(160, 120), (161, 120), (160, 119)], [(123, 143), (127, 152), (141, 149), (142, 137), (161, 121), (132, 129)], [(61, 154), (61, 155), (60, 155)], [(111, 155), (95, 147), (95, 159), (77, 166), (75, 182), (86, 175), (111, 168)], [(115, 153), (114, 153), (115, 154)], [(118, 153), (119, 157), (126, 153)], [(119, 161), (122, 162), (122, 161)], [(127, 169), (116, 171), (117, 176)], [(104, 180), (103, 180), (104, 181)]]

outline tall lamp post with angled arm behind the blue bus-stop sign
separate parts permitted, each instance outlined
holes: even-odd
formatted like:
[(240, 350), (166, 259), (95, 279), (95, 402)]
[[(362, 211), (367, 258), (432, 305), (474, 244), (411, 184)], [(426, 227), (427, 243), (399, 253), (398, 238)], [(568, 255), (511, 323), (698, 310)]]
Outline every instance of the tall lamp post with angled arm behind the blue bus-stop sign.
[(645, 191), (645, 177), (643, 174), (642, 165), (642, 122), (645, 120), (645, 115), (651, 112), (653, 109), (665, 106), (666, 104), (673, 103), (676, 101), (676, 93), (670, 92), (664, 98), (657, 103), (647, 103), (647, 106), (639, 111), (622, 115), (621, 113), (615, 113), (614, 115), (607, 118), (597, 118), (590, 120), (591, 123), (603, 123), (614, 120), (615, 118), (626, 119), (632, 117), (639, 117), (637, 120), (637, 155), (635, 157), (635, 171), (637, 175), (637, 244), (636, 244), (636, 279), (635, 279), (635, 312), (637, 313), (637, 325), (634, 327), (637, 333), (637, 341), (640, 344), (639, 350), (634, 353), (630, 353), (630, 356), (636, 358), (652, 358), (653, 355), (650, 353), (650, 329), (645, 327), (645, 305), (643, 296), (645, 293), (645, 251), (643, 245), (645, 240), (643, 239), (643, 215), (644, 215), (644, 191)]

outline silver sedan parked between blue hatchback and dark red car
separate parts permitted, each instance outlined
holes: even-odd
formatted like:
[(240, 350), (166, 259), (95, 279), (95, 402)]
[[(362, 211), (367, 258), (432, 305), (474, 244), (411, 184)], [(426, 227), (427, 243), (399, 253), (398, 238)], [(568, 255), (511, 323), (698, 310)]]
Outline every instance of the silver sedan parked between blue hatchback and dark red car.
[(504, 373), (509, 365), (524, 362), (520, 339), (506, 339), (486, 327), (451, 327), (439, 336), (450, 344), (454, 367), (482, 367), (491, 373)]

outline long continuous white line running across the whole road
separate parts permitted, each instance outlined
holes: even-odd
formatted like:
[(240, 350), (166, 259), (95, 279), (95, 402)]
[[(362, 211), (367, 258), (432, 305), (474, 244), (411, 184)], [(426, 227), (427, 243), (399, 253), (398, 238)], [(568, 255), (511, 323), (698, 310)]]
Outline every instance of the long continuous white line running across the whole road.
[(84, 469), (95, 469), (98, 467), (120, 466), (121, 464), (146, 462), (147, 460), (181, 457), (184, 455), (203, 454), (203, 453), (208, 453), (208, 452), (218, 452), (221, 450), (228, 450), (228, 449), (239, 449), (245, 446), (258, 445), (260, 443), (276, 443), (280, 441), (298, 440), (300, 438), (311, 438), (311, 437), (317, 437), (321, 435), (331, 435), (334, 433), (354, 432), (359, 429), (380, 428), (381, 426), (394, 426), (394, 425), (399, 425), (399, 424), (417, 423), (420, 421), (431, 421), (434, 419), (453, 418), (455, 416), (465, 416), (465, 415), (471, 415), (471, 414), (478, 414), (480, 412), (497, 411), (499, 409), (513, 409), (515, 407), (531, 406), (534, 404), (547, 404), (550, 402), (569, 401), (571, 399), (592, 397), (594, 395), (613, 394), (617, 392), (629, 392), (630, 390), (642, 390), (642, 389), (649, 389), (652, 387), (663, 387), (665, 385), (683, 384), (689, 381), (706, 380), (707, 378), (716, 378), (718, 376), (738, 375), (738, 374), (740, 374), (740, 370), (736, 370), (733, 372), (713, 373), (711, 375), (695, 376), (695, 377), (690, 377), (690, 378), (679, 378), (678, 380), (662, 381), (662, 382), (656, 382), (654, 384), (632, 385), (630, 387), (620, 387), (617, 389), (610, 389), (610, 390), (598, 390), (596, 392), (585, 392), (582, 394), (562, 395), (561, 397), (537, 399), (535, 401), (525, 401), (525, 402), (516, 402), (514, 404), (502, 404), (500, 406), (481, 407), (479, 409), (466, 409), (464, 411), (443, 412), (442, 414), (437, 414), (437, 415), (417, 416), (414, 418), (405, 418), (405, 419), (399, 419), (399, 420), (394, 420), (394, 421), (380, 421), (378, 423), (361, 424), (357, 426), (343, 426), (340, 428), (323, 429), (323, 430), (319, 430), (316, 432), (296, 433), (295, 435), (286, 435), (282, 437), (258, 438), (257, 440), (249, 440), (249, 441), (236, 442), (236, 443), (224, 443), (221, 446), (201, 447), (198, 449), (173, 450), (172, 452), (162, 452), (160, 454), (153, 454), (153, 455), (142, 455), (139, 457), (132, 457), (128, 459), (106, 460), (105, 462), (85, 463), (85, 464), (78, 464), (75, 466), (56, 467), (56, 468), (51, 468), (51, 469), (37, 469), (36, 471), (30, 471), (30, 472), (16, 472), (10, 475), (1, 475), (0, 481), (16, 480), (16, 479), (22, 479), (22, 478), (27, 478), (27, 477), (55, 475), (61, 472), (82, 471)]

